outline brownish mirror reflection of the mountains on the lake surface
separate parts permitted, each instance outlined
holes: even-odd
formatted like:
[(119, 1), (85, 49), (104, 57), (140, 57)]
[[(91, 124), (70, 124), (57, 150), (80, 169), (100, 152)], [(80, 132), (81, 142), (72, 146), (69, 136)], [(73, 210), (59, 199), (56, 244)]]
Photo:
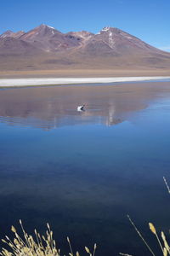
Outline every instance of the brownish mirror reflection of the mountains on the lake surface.
[[(146, 108), (168, 83), (56, 86), (0, 91), (0, 121), (50, 130), (64, 125), (116, 125)], [(86, 104), (85, 112), (77, 106)]]

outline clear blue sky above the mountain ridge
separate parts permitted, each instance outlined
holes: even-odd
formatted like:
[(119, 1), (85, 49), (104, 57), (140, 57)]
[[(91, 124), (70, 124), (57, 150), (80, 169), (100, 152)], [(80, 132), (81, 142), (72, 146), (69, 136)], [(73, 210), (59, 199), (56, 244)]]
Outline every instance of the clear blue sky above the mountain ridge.
[(61, 32), (118, 27), (170, 51), (170, 0), (0, 0), (0, 33), (44, 23)]

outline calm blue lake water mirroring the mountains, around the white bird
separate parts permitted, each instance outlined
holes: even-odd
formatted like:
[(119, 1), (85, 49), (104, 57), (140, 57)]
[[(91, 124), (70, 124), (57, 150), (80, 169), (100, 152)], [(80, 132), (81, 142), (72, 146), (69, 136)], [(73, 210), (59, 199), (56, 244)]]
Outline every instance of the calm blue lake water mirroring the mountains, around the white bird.
[(65, 251), (147, 255), (126, 215), (154, 247), (148, 222), (168, 231), (169, 131), (167, 82), (0, 90), (1, 238), (21, 218)]

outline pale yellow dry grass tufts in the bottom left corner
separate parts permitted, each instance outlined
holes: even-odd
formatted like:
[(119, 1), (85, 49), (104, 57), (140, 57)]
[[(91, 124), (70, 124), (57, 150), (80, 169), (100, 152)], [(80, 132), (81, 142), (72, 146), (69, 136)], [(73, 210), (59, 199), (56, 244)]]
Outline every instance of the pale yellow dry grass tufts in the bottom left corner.
[[(5, 236), (6, 239), (2, 240), (3, 243), (5, 243), (8, 247), (2, 248), (2, 251), (0, 252), (0, 255), (3, 256), (60, 256), (62, 255), (60, 253), (59, 248), (56, 246), (56, 242), (53, 238), (53, 231), (50, 230), (49, 224), (48, 230), (46, 231), (46, 236), (41, 236), (39, 233), (37, 233), (37, 230), (35, 230), (35, 238), (33, 236), (30, 236), (26, 233), (26, 231), (23, 228), (22, 222), (20, 220), (20, 226), (23, 232), (23, 238), (21, 238), (17, 231), (15, 230), (14, 226), (12, 226), (11, 230), (14, 232), (14, 241), (11, 241), (8, 236)], [(70, 256), (80, 256), (78, 252), (73, 253), (72, 247), (71, 247), (71, 241), (69, 237), (67, 237), (67, 241), (70, 247)], [(94, 256), (96, 251), (96, 244), (94, 244), (93, 253), (89, 250), (88, 247), (84, 248), (86, 253), (88, 253), (89, 256)]]

